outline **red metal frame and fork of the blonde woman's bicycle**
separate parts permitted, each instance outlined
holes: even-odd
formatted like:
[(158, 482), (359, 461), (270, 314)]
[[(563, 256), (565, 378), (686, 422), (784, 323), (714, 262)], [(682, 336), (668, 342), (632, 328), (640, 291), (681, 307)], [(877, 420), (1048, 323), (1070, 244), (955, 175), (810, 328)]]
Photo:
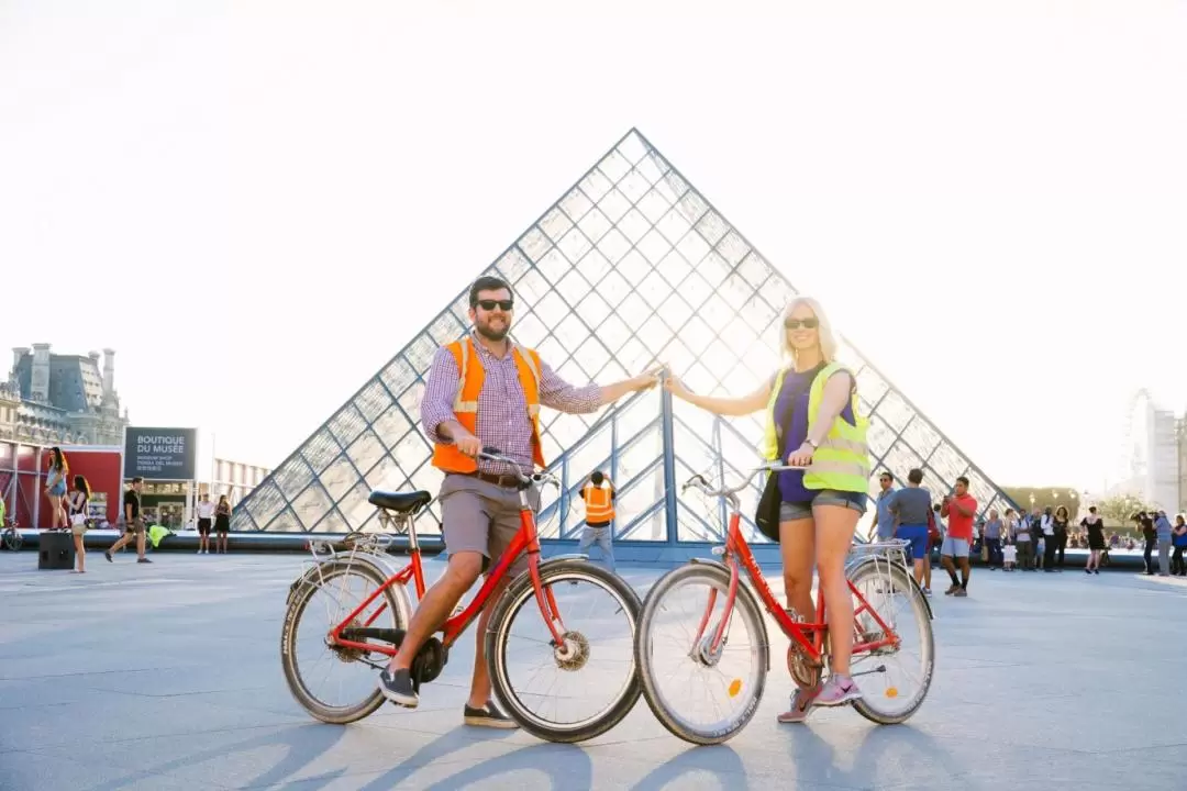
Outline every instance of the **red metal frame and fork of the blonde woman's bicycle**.
[[(730, 569), (730, 589), (725, 600), (725, 613), (721, 621), (717, 624), (717, 631), (713, 633), (711, 651), (717, 651), (723, 640), (725, 639), (725, 626), (730, 623), (730, 615), (734, 613), (734, 602), (737, 599), (737, 588), (741, 581), (741, 569), (745, 569), (747, 575), (750, 578), (750, 585), (758, 592), (758, 598), (762, 599), (763, 606), (767, 612), (772, 614), (779, 627), (783, 630), (789, 639), (794, 640), (805, 651), (808, 659), (814, 663), (820, 664), (823, 662), (823, 645), (825, 630), (827, 629), (825, 621), (824, 611), (824, 592), (817, 591), (817, 604), (815, 604), (815, 621), (814, 623), (798, 623), (792, 620), (787, 611), (783, 610), (775, 600), (775, 595), (770, 592), (770, 586), (767, 585), (766, 578), (762, 572), (758, 570), (758, 563), (754, 559), (754, 553), (750, 551), (750, 546), (745, 541), (745, 536), (742, 535), (742, 515), (738, 511), (732, 511), (730, 513), (730, 524), (725, 534), (725, 562)], [(865, 600), (865, 597), (853, 587), (853, 583), (846, 580), (850, 592), (857, 597), (858, 605), (853, 607), (853, 618), (863, 613), (869, 613), (877, 621), (878, 629), (886, 636), (881, 640), (871, 640), (865, 643), (853, 644), (852, 652), (862, 653), (865, 651), (874, 651), (887, 645), (897, 645), (899, 634), (882, 620), (878, 615), (877, 610), (870, 606)], [(697, 637), (693, 639), (693, 644), (698, 643), (705, 627), (709, 624), (709, 617), (713, 611), (713, 605), (717, 601), (717, 591), (710, 591), (709, 593), (709, 605), (705, 607), (705, 615), (700, 619), (700, 625), (697, 629)], [(811, 637), (806, 636), (806, 632), (811, 632)]]

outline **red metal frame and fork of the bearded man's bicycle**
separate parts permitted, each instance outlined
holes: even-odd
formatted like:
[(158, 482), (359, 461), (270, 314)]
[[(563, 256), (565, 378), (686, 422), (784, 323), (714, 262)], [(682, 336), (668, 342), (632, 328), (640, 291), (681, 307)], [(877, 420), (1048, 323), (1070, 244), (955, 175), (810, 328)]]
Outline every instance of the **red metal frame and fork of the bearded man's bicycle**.
[[(417, 598), (423, 599), (425, 595), (425, 581), (424, 572), (420, 566), (420, 546), (417, 541), (415, 528), (412, 527), (408, 530), (408, 543), (410, 551), (412, 554), (412, 561), (404, 567), (400, 572), (389, 576), (383, 585), (375, 589), (367, 599), (355, 607), (349, 615), (347, 615), (337, 626), (330, 630), (330, 639), (339, 646), (360, 649), (364, 651), (374, 651), (376, 653), (383, 653), (386, 656), (395, 656), (400, 650), (398, 645), (377, 645), (375, 643), (363, 643), (358, 640), (348, 640), (342, 638), (342, 631), (351, 625), (351, 621), (358, 617), (360, 613), (367, 610), (379, 597), (383, 594), (393, 585), (407, 585), (410, 580), (415, 581), (417, 586)], [(528, 572), (532, 575), (532, 587), (535, 591), (537, 605), (540, 607), (540, 614), (544, 617), (544, 621), (548, 625), (548, 631), (552, 633), (552, 639), (556, 645), (565, 645), (564, 640), (564, 621), (560, 618), (560, 612), (557, 607), (557, 600), (552, 594), (552, 589), (544, 589), (540, 585), (540, 541), (537, 536), (535, 525), (535, 513), (532, 510), (531, 503), (528, 502), (527, 490), (520, 490), (520, 529), (512, 538), (512, 543), (503, 550), (500, 555), (499, 562), (495, 564), (494, 569), (487, 574), (487, 580), (483, 582), (482, 587), (478, 589), (478, 594), (474, 598), (470, 605), (459, 612), (458, 614), (449, 618), (442, 625), (437, 632), (443, 634), (442, 644), (449, 649), (457, 642), (457, 638), (470, 626), (470, 624), (478, 617), (482, 608), (487, 605), (490, 598), (494, 595), (495, 588), (503, 581), (507, 576), (510, 567), (515, 563), (522, 553), (527, 553)], [(364, 620), (361, 626), (363, 629), (370, 626), (375, 623), (375, 619), (383, 614), (387, 608), (385, 602), (379, 607), (373, 614), (370, 614), (367, 620)]]

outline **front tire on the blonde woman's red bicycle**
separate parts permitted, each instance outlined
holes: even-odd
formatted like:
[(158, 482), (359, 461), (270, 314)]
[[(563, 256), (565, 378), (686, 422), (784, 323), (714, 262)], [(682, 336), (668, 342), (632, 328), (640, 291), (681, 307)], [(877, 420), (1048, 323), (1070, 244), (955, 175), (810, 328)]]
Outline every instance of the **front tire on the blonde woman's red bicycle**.
[(730, 585), (729, 570), (716, 563), (688, 563), (687, 566), (681, 566), (680, 568), (673, 569), (661, 576), (655, 585), (652, 586), (652, 589), (647, 592), (647, 598), (643, 600), (643, 611), (639, 618), (639, 629), (635, 632), (635, 666), (639, 668), (639, 678), (643, 688), (643, 700), (647, 701), (647, 706), (652, 709), (652, 714), (654, 714), (655, 719), (659, 720), (665, 728), (667, 728), (668, 733), (693, 745), (719, 745), (723, 741), (728, 741), (737, 735), (738, 732), (749, 725), (750, 720), (753, 720), (754, 715), (758, 712), (758, 703), (762, 701), (762, 695), (766, 691), (767, 674), (770, 669), (770, 644), (767, 636), (767, 625), (762, 615), (762, 608), (758, 607), (757, 601), (755, 601), (754, 592), (750, 587), (740, 581), (737, 595), (734, 599), (734, 613), (740, 614), (743, 618), (747, 630), (751, 634), (755, 634), (758, 639), (758, 645), (755, 650), (758, 652), (758, 666), (763, 668), (763, 671), (760, 672), (755, 680), (754, 688), (747, 688), (751, 700), (742, 709), (741, 714), (729, 725), (729, 727), (717, 728), (715, 731), (704, 731), (681, 722), (664, 706), (660, 693), (656, 688), (655, 678), (652, 675), (652, 663), (649, 658), (650, 627), (654, 623), (656, 612), (660, 610), (664, 595), (675, 587), (677, 583), (684, 582), (690, 578), (703, 578), (705, 580), (710, 580), (717, 583), (715, 587), (724, 591), (728, 591)]

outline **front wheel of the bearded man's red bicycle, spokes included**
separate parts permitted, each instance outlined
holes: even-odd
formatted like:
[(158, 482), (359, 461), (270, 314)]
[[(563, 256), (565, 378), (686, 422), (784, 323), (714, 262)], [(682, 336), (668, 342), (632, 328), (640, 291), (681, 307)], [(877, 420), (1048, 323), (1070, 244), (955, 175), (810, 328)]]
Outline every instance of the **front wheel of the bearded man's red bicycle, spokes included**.
[[(553, 645), (532, 576), (520, 574), (487, 630), (491, 689), (519, 726), (539, 739), (592, 739), (616, 726), (639, 700), (639, 597), (622, 579), (586, 561), (545, 563), (540, 583), (557, 602), (565, 645)], [(519, 661), (528, 664), (526, 670)]]

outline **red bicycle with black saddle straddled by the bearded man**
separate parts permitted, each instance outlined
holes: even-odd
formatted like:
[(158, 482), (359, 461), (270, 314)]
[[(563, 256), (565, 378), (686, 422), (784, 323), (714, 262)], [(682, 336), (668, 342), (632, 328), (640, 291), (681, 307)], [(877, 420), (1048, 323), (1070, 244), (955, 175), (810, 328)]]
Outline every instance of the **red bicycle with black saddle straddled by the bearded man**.
[[(526, 551), (528, 568), (494, 602), (484, 637), (493, 691), (520, 727), (540, 739), (573, 742), (605, 733), (630, 712), (640, 695), (633, 651), (639, 597), (620, 578), (588, 562), (585, 555), (541, 560), (534, 504), (539, 486), (552, 484), (559, 489), (558, 479), (544, 472), (525, 472), (494, 448), (484, 448), (480, 458), (515, 470), (520, 480), (520, 529), (469, 606), (455, 611), (438, 630), (440, 638), (431, 637), (417, 652), (413, 683), (419, 690), (420, 684), (440, 675), (450, 649), (482, 608), (491, 604), (491, 592)], [(408, 582), (414, 585), (418, 600), (425, 593), (414, 518), (432, 502), (432, 495), (373, 491), (368, 502), (379, 509), (380, 531), (353, 532), (341, 550), (315, 543), (315, 564), (288, 592), (280, 639), (285, 680), (297, 701), (323, 722), (354, 722), (382, 706), (375, 672), (404, 639), (412, 617)], [(400, 534), (408, 536), (410, 561), (393, 569), (387, 549)], [(348, 592), (354, 586), (361, 589)], [(318, 594), (326, 595), (324, 607), (311, 606)], [(597, 608), (599, 604), (604, 605), (602, 610)], [(301, 627), (323, 610), (325, 623), (310, 626), (311, 639), (301, 644)], [(527, 617), (519, 618), (521, 614)], [(624, 617), (626, 632), (605, 634), (605, 627), (618, 615)], [(519, 636), (519, 627), (528, 633)], [(522, 655), (513, 650), (520, 648), (520, 639)], [(589, 664), (595, 642), (599, 655), (596, 666)], [(514, 671), (510, 663), (520, 656), (537, 661), (523, 674)], [(330, 698), (334, 690), (311, 689), (313, 681), (335, 670), (362, 670), (355, 674), (361, 680), (360, 691)], [(535, 682), (540, 682), (542, 691), (528, 689)], [(598, 695), (605, 700), (592, 702)], [(553, 696), (551, 704), (548, 696)]]

